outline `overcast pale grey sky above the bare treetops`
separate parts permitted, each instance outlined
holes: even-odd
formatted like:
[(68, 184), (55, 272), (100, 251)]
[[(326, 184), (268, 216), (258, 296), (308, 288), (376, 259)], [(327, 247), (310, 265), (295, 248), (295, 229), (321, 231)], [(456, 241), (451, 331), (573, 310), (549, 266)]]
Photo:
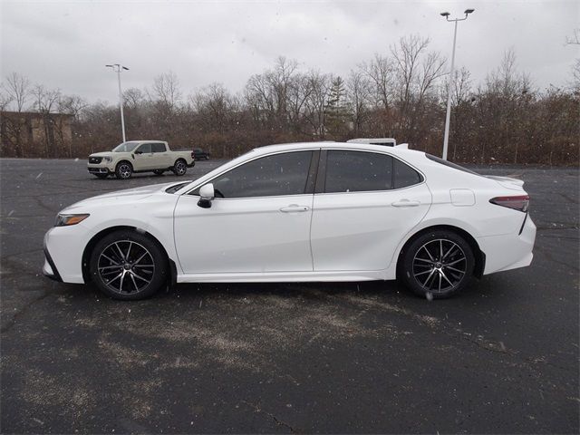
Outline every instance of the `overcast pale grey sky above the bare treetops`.
[(401, 36), (430, 38), (450, 58), (453, 24), (440, 12), (474, 14), (459, 23), (456, 63), (477, 83), (513, 47), (517, 66), (539, 89), (569, 82), (580, 45), (580, 1), (5, 1), (2, 78), (32, 82), (90, 101), (116, 102), (106, 63), (131, 68), (123, 88), (150, 86), (173, 71), (185, 95), (211, 82), (240, 91), (284, 55), (305, 69), (343, 76)]

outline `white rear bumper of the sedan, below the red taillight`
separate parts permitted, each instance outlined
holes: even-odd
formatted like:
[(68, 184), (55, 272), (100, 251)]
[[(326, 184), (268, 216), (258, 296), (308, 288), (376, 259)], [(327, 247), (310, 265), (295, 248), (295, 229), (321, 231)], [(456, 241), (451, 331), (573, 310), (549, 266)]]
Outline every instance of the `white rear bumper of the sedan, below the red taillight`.
[(535, 241), (536, 225), (529, 216), (519, 234), (478, 238), (479, 248), (486, 255), (483, 275), (529, 266)]

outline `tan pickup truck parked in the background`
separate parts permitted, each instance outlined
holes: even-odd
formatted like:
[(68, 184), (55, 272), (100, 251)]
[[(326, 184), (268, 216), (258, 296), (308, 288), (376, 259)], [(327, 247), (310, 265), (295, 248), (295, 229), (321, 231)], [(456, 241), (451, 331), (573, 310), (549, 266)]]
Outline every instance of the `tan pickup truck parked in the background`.
[(87, 169), (99, 179), (110, 175), (130, 179), (135, 172), (153, 172), (157, 175), (171, 170), (175, 175), (185, 175), (195, 165), (193, 151), (169, 150), (162, 140), (131, 140), (107, 152), (89, 156)]

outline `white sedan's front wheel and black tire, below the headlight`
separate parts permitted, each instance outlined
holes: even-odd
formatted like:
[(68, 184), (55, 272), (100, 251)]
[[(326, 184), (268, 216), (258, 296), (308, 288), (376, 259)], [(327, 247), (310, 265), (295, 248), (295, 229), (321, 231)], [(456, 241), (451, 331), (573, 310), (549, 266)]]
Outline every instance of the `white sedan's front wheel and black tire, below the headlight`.
[(97, 242), (89, 270), (92, 282), (102, 293), (113, 299), (134, 301), (150, 297), (167, 285), (169, 263), (155, 240), (121, 229)]

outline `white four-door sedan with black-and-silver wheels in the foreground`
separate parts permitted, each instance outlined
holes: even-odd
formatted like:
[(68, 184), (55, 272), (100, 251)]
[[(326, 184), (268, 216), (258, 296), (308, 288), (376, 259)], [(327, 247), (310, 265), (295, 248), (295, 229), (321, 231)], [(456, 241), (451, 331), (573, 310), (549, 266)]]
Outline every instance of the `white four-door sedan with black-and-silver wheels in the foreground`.
[(395, 278), (447, 297), (474, 275), (531, 263), (522, 185), (404, 146), (262, 147), (195, 181), (63, 209), (43, 273), (118, 299), (176, 283)]

